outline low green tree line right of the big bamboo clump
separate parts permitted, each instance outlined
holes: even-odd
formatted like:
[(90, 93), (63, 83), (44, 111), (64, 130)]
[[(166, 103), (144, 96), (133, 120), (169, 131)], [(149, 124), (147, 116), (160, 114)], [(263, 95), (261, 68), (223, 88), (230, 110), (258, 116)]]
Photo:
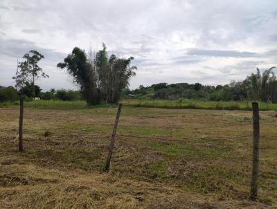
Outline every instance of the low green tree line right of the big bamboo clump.
[(146, 100), (178, 100), (181, 98), (211, 101), (260, 100), (262, 102), (277, 102), (277, 80), (274, 68), (260, 74), (252, 73), (242, 82), (231, 82), (227, 85), (188, 84), (153, 84), (150, 87), (140, 86), (139, 89), (123, 91), (124, 97), (134, 97)]

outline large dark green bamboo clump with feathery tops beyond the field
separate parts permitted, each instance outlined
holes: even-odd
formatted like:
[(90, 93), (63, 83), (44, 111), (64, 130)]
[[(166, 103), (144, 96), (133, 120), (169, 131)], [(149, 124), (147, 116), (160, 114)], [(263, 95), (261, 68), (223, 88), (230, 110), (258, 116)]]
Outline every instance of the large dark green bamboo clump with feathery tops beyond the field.
[(93, 56), (89, 56), (80, 48), (75, 47), (64, 62), (57, 64), (60, 69), (66, 69), (80, 85), (80, 92), (89, 105), (100, 102), (116, 103), (120, 99), (122, 89), (129, 84), (129, 78), (134, 73), (135, 66), (130, 66), (133, 57), (118, 58), (107, 55), (106, 46)]

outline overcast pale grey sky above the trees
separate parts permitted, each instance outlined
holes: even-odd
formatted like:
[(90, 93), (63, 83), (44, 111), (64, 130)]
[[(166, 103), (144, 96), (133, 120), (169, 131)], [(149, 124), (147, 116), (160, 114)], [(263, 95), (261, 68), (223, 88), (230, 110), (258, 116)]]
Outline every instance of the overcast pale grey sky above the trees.
[(0, 85), (17, 58), (42, 53), (44, 90), (76, 89), (56, 68), (74, 46), (135, 58), (130, 88), (157, 82), (228, 84), (277, 65), (276, 0), (1, 0)]

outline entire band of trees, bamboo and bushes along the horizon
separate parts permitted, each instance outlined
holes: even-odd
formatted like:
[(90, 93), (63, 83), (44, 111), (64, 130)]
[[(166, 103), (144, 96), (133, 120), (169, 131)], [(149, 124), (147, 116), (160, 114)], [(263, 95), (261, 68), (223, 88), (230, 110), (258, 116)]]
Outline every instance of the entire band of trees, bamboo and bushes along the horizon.
[(200, 83), (167, 84), (165, 82), (152, 84), (150, 87), (141, 85), (138, 89), (129, 90), (129, 79), (136, 75), (136, 66), (131, 62), (134, 57), (118, 58), (116, 55), (108, 55), (107, 47), (102, 44), (102, 49), (86, 53), (75, 47), (57, 64), (57, 68), (66, 69), (73, 77), (73, 81), (79, 84), (80, 91), (60, 89), (42, 92), (35, 84), (39, 78), (48, 78), (38, 65), (44, 59), (44, 55), (37, 51), (30, 51), (23, 56), (24, 61), (18, 63), (16, 76), (13, 77), (16, 84), (13, 87), (0, 88), (0, 102), (14, 101), (19, 97), (32, 100), (40, 97), (44, 100), (86, 100), (88, 105), (96, 105), (102, 102), (117, 103), (120, 97), (139, 99), (178, 100), (181, 98), (195, 100), (260, 100), (263, 102), (277, 102), (277, 79), (274, 73), (275, 67), (260, 73), (247, 76), (243, 81), (231, 82), (226, 85), (203, 85)]

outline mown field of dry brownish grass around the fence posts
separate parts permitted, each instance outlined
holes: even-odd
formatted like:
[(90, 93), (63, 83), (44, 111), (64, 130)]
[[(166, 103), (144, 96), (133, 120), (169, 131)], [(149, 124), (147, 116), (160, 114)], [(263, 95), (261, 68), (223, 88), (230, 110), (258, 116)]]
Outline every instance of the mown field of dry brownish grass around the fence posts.
[(0, 108), (0, 208), (276, 208), (277, 118), (260, 113), (260, 188), (248, 201), (251, 111)]

